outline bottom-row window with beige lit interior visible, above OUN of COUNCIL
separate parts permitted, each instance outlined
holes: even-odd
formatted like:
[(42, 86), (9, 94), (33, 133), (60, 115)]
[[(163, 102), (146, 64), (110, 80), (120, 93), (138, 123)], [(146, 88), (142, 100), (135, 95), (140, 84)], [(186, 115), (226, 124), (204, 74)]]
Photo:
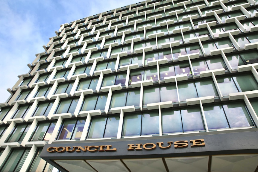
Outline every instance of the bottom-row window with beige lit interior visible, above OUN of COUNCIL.
[(85, 119), (69, 119), (63, 121), (57, 140), (80, 140), (84, 124)]

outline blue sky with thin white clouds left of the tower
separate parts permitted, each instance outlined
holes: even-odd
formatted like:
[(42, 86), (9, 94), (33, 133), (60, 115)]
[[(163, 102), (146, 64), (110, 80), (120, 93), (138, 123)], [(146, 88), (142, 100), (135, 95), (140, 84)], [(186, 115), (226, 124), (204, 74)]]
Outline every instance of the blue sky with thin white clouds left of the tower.
[(0, 103), (10, 96), (6, 91), (28, 73), (28, 63), (43, 52), (49, 38), (61, 24), (140, 0), (1, 0), (0, 1)]

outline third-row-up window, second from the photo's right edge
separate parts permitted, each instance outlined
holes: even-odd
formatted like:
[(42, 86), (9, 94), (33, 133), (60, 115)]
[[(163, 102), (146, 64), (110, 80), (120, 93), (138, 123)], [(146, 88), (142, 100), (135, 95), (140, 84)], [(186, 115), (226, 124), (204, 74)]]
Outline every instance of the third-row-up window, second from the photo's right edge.
[(193, 60), (191, 63), (194, 74), (200, 74), (200, 71), (208, 71), (221, 68), (227, 70), (221, 55), (219, 55), (218, 57), (215, 56), (204, 60)]

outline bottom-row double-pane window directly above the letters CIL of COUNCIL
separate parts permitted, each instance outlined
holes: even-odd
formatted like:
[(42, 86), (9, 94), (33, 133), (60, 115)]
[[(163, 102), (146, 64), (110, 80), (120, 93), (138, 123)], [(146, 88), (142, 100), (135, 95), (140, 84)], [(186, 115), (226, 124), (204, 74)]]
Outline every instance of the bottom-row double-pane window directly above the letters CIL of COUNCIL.
[(92, 118), (87, 138), (116, 138), (119, 115)]

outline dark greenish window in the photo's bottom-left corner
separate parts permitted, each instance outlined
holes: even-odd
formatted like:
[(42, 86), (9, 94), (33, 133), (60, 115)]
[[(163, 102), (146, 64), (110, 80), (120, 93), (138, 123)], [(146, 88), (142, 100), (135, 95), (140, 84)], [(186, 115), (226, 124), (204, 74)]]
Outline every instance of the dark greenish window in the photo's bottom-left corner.
[(10, 153), (0, 167), (0, 171), (20, 171), (29, 152), (29, 148), (11, 149)]

